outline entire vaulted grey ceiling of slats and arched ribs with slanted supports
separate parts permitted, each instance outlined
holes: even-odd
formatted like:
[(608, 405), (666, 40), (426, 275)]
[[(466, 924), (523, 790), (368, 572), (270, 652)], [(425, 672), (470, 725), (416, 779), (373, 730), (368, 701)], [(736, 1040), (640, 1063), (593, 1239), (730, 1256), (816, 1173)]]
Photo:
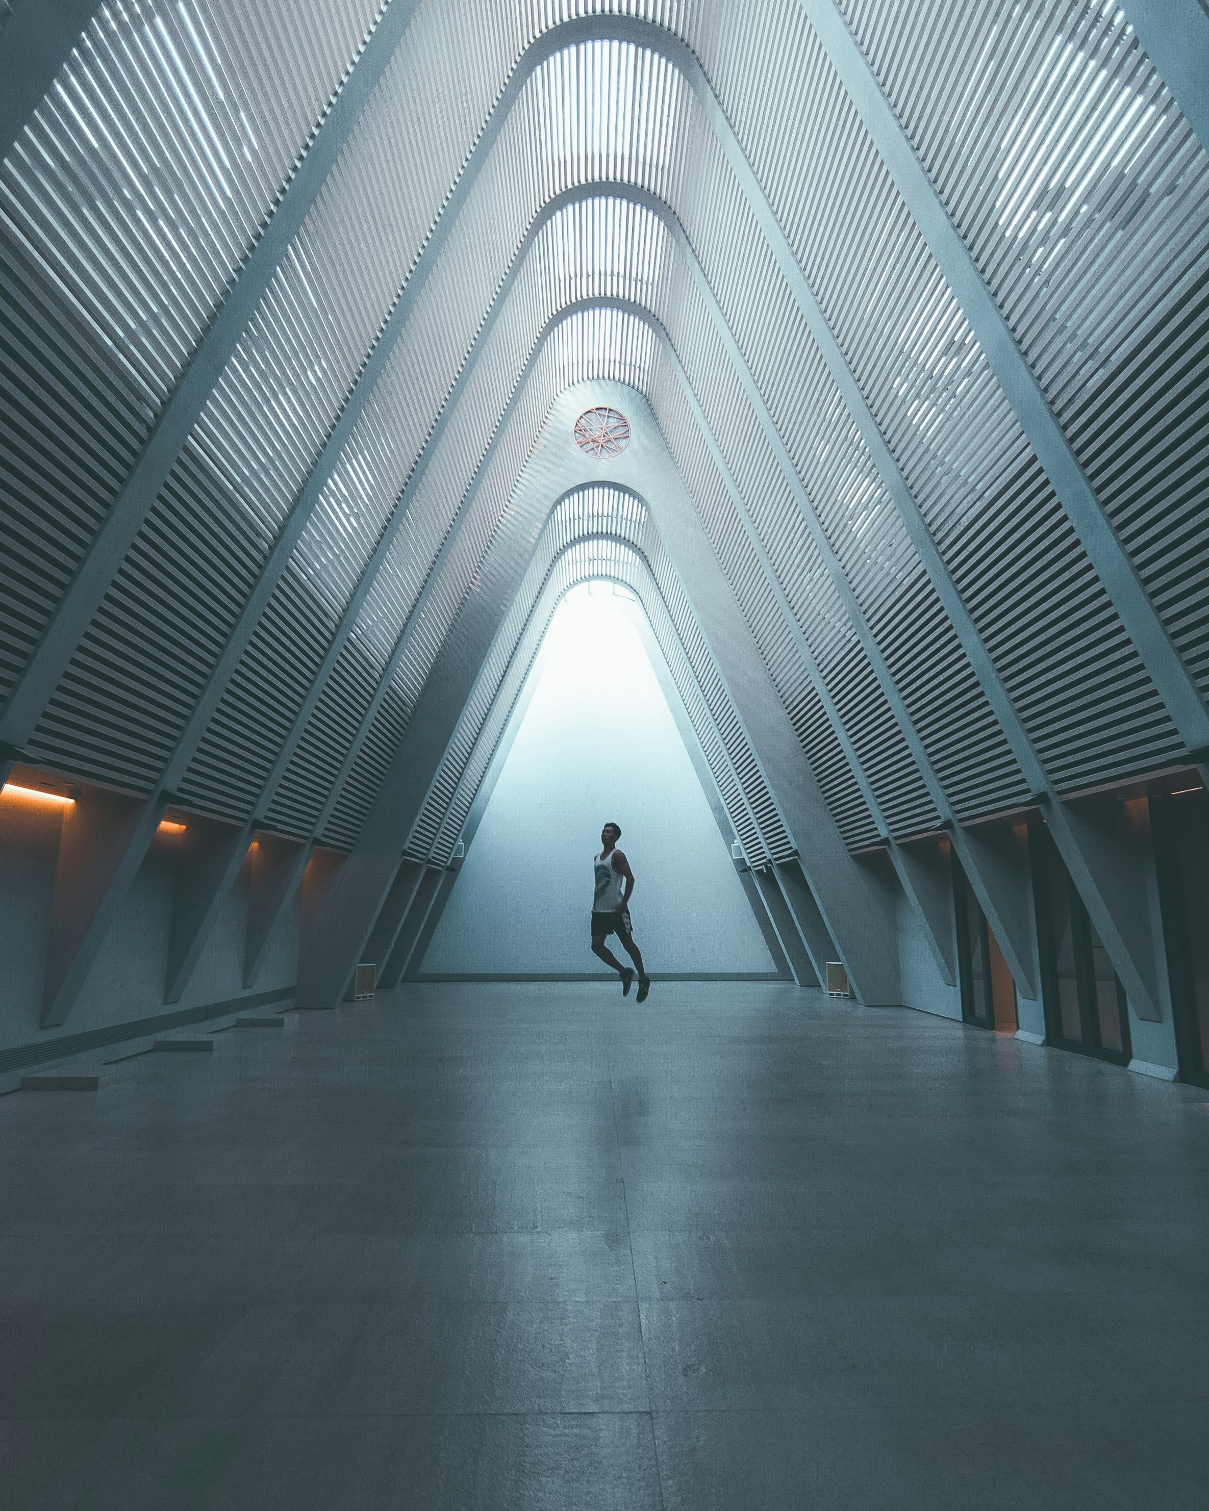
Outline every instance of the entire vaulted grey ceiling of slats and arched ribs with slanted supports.
[(798, 978), (896, 1000), (890, 885), (955, 982), (951, 849), (1043, 1034), (1040, 814), (1159, 1056), (1118, 799), (1209, 760), (1197, 0), (51, 9), (0, 30), (0, 757), (82, 793), (45, 1026), (169, 813), (166, 1002), (245, 867), (246, 982), (299, 895), (299, 1000), (414, 969), (614, 487)]

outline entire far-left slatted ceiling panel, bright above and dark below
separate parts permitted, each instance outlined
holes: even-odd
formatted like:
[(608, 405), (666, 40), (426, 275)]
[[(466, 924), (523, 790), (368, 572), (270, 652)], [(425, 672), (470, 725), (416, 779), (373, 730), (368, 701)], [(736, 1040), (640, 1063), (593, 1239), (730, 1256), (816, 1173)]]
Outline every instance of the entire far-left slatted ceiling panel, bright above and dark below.
[[(38, 464), (32, 479), (20, 462), (5, 467), (14, 505), (0, 559), (14, 573), (20, 613), (0, 692), (48, 621), (372, 17), (369, 0), (101, 6), (6, 157), (0, 260), (11, 302), (0, 379), (9, 402), (29, 405), (14, 420), (20, 450)], [(296, 32), (289, 50), (281, 30)], [(65, 730), (57, 740), (74, 748)]]

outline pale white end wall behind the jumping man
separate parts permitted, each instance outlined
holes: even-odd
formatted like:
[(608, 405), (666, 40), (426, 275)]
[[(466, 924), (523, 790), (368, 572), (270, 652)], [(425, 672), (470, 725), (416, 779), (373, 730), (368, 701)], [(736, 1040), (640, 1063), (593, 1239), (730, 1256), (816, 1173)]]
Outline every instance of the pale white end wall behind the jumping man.
[(422, 973), (589, 972), (592, 855), (623, 828), (653, 972), (772, 972), (642, 642), (612, 589), (568, 594)]

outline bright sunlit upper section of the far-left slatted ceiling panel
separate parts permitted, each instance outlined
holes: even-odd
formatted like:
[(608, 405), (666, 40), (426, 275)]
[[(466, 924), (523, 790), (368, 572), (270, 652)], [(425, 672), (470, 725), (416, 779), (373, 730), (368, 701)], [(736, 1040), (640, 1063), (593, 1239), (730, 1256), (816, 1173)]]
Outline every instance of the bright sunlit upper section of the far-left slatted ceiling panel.
[(0, 215), (153, 406), (252, 248), (373, 14), (373, 0), (104, 5), (5, 159)]

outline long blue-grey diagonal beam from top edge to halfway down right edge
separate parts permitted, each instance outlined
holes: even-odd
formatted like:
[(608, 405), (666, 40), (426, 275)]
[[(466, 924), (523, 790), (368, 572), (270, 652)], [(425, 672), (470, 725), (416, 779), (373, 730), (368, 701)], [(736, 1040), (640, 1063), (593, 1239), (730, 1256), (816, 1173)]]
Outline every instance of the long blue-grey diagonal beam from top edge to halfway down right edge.
[[(1189, 751), (1203, 752), (1209, 746), (1209, 710), (910, 138), (834, 0), (799, 3), (985, 352), (1176, 728)], [(1191, 3), (1185, 0), (1189, 14)], [(1167, 9), (1162, 8), (1164, 15)], [(1203, 91), (1201, 79), (1201, 95)]]

